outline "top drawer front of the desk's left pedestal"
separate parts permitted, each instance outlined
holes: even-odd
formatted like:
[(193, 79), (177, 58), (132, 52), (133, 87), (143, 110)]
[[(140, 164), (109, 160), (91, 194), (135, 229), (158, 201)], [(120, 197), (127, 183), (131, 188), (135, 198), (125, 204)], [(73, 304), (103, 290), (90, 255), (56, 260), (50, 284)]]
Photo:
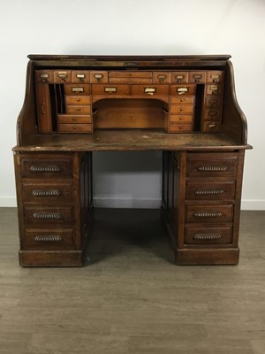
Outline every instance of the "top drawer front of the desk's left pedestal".
[(21, 175), (26, 178), (63, 178), (72, 177), (72, 158), (21, 158)]

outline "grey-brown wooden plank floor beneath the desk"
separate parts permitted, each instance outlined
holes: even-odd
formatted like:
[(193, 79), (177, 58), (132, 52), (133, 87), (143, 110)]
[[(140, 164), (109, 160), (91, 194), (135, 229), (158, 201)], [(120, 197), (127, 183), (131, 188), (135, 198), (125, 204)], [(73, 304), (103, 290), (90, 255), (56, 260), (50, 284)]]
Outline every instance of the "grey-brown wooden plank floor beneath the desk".
[(265, 212), (242, 212), (239, 266), (175, 266), (157, 212), (130, 216), (96, 212), (89, 266), (21, 268), (0, 209), (0, 354), (264, 354)]

